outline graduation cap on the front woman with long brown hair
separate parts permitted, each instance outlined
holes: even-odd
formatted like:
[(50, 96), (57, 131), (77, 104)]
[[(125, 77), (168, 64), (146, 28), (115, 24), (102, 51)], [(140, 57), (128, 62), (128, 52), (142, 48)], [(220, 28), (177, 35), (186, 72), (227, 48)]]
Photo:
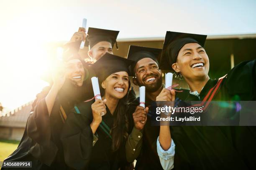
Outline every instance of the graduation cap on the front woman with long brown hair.
[(128, 67), (133, 61), (128, 60), (117, 55), (106, 53), (99, 60), (97, 60), (93, 65), (93, 69), (100, 81), (105, 80), (108, 76), (115, 72), (125, 71), (128, 75), (131, 75)]

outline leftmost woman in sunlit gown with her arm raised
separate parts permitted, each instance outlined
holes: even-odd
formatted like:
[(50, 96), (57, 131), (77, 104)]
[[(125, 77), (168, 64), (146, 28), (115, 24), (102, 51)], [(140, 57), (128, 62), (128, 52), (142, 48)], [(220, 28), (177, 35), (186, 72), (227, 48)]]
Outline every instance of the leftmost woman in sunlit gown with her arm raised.
[(72, 47), (69, 49), (63, 57), (64, 65), (52, 73), (51, 86), (36, 95), (20, 145), (5, 161), (30, 160), (36, 169), (65, 168), (60, 130), (74, 103), (80, 96), (89, 95), (82, 86), (86, 64)]

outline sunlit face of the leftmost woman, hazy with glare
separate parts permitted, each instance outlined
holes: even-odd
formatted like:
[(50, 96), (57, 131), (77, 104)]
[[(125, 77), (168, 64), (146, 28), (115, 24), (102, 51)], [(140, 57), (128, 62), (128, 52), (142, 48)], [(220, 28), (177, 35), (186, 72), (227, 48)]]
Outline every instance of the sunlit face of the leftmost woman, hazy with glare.
[(76, 86), (82, 86), (84, 81), (84, 67), (80, 60), (73, 59), (66, 63), (67, 78), (74, 82)]

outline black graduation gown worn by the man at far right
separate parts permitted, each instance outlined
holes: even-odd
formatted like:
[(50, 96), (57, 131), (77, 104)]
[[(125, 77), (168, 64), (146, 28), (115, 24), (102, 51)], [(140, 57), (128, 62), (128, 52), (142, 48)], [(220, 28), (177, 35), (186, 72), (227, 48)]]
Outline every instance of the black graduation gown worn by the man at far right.
[[(202, 100), (218, 80), (210, 79), (199, 97)], [(223, 79), (212, 101), (256, 100), (256, 60), (242, 62)], [(176, 145), (174, 169), (256, 169), (256, 127), (172, 126)]]

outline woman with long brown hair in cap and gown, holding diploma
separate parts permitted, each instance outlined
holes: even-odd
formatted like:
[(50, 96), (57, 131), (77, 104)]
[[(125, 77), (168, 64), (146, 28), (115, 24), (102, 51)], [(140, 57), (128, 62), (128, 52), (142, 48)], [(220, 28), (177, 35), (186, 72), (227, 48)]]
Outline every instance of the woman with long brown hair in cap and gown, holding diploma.
[(102, 100), (82, 102), (67, 117), (61, 140), (65, 162), (70, 168), (119, 169), (127, 164), (125, 141), (131, 62), (106, 53), (92, 66), (99, 79)]

